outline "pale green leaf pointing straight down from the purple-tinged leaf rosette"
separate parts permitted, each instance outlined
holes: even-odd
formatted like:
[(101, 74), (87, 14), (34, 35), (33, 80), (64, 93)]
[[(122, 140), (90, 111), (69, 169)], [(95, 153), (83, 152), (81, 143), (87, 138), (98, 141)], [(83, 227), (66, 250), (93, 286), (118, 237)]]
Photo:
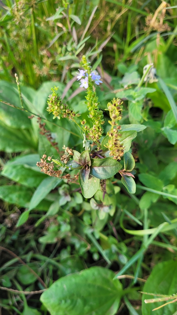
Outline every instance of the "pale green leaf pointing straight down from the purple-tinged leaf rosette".
[(82, 194), (85, 198), (93, 197), (98, 190), (99, 184), (100, 180), (95, 177), (91, 177), (87, 183), (84, 183), (79, 173), (79, 185), (81, 186)]

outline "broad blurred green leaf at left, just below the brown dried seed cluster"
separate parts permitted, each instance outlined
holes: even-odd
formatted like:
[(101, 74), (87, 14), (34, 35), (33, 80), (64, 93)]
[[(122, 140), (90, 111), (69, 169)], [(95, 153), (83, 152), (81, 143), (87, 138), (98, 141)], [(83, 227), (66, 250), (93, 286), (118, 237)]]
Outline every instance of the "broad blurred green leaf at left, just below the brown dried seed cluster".
[(36, 172), (23, 165), (7, 163), (1, 175), (28, 187), (37, 187), (47, 175)]

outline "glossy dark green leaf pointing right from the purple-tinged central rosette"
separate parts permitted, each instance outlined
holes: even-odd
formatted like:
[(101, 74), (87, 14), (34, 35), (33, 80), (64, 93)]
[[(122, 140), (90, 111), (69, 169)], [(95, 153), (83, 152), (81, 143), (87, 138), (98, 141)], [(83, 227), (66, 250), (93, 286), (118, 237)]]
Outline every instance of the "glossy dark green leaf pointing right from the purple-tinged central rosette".
[(107, 179), (114, 176), (121, 168), (122, 164), (111, 157), (106, 157), (103, 159), (92, 158), (90, 175), (99, 179)]

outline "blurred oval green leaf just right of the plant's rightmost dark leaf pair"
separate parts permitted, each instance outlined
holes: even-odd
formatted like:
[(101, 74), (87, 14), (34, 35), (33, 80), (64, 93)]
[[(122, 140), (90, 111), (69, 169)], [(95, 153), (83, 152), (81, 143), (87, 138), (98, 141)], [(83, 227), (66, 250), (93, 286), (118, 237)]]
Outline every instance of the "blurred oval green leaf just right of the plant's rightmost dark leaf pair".
[(159, 190), (159, 191), (162, 191), (163, 189), (162, 180), (158, 179), (157, 177), (153, 175), (141, 173), (141, 174), (138, 174), (138, 178), (146, 187)]

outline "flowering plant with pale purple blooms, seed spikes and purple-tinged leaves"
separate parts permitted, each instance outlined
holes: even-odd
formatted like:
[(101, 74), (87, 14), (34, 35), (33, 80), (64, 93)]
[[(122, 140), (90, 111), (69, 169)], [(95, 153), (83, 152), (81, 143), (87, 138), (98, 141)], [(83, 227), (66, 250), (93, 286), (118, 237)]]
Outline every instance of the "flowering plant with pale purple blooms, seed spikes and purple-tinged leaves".
[[(48, 163), (42, 158), (37, 166), (45, 174), (65, 178), (68, 182), (78, 179), (85, 198), (91, 198), (97, 192), (100, 180), (106, 182), (106, 179), (111, 178), (117, 172), (120, 173), (122, 183), (128, 191), (135, 193), (136, 185), (133, 179), (135, 162), (132, 154), (128, 152), (131, 140), (127, 143), (127, 133), (122, 131), (121, 125), (118, 124), (123, 117), (123, 102), (119, 98), (114, 98), (112, 102), (108, 103), (107, 110), (110, 115), (111, 129), (100, 142), (105, 121), (102, 119), (103, 111), (100, 109), (94, 83), (100, 85), (102, 83), (101, 76), (97, 71), (92, 70), (85, 56), (82, 57), (81, 67), (82, 69), (77, 72), (77, 81), (80, 81), (80, 87), (86, 89), (85, 104), (89, 113), (88, 117), (91, 118), (93, 126), (90, 128), (85, 119), (80, 120), (80, 125), (77, 123), (75, 117), (79, 117), (80, 114), (76, 114), (67, 104), (62, 103), (60, 96), (56, 93), (56, 87), (52, 88), (52, 94), (49, 95), (47, 111), (52, 112), (54, 118), (68, 118), (77, 123), (82, 131), (83, 148), (85, 150), (78, 152), (64, 146), (65, 153), (60, 158), (52, 159), (52, 157), (48, 157)], [(139, 127), (139, 125), (137, 126)], [(141, 125), (140, 130), (142, 128), (146, 127)], [(122, 156), (124, 156), (124, 168), (120, 163)], [(71, 171), (71, 174), (63, 175), (61, 168), (64, 168), (67, 172)], [(105, 193), (106, 191), (104, 195)]]

